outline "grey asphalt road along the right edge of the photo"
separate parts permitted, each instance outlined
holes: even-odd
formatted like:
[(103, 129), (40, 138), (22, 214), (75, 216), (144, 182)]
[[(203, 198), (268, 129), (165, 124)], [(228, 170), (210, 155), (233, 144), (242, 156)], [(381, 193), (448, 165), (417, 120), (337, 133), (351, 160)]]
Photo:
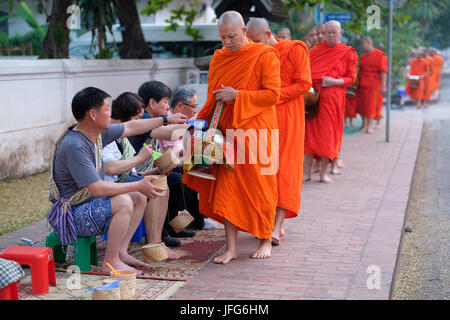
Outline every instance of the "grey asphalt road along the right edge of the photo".
[[(411, 110), (413, 107), (405, 107)], [(450, 299), (450, 75), (440, 100), (426, 110), (424, 128), (391, 298)]]

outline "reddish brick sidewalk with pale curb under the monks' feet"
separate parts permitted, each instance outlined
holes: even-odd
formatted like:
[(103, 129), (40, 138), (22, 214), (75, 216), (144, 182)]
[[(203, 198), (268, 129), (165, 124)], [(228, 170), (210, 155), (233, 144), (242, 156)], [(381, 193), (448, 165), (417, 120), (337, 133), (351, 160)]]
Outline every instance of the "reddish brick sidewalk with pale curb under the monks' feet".
[(305, 183), (298, 218), (266, 260), (239, 233), (237, 260), (210, 262), (171, 299), (389, 299), (423, 119), (391, 112), (374, 135), (345, 136), (334, 184)]

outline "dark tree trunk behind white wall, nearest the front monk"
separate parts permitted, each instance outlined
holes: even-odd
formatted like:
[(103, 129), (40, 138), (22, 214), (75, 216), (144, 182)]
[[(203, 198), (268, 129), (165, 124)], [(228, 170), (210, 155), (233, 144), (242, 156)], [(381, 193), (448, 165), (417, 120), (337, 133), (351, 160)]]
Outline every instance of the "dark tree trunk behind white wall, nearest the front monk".
[(145, 41), (135, 0), (119, 0), (119, 21), (122, 30), (122, 59), (151, 59), (152, 50)]

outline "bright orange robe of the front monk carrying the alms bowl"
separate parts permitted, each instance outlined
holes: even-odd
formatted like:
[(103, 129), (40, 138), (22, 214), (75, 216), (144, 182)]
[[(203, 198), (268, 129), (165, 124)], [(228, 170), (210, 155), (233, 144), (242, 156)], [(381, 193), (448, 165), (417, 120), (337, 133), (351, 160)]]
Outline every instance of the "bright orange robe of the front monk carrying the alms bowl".
[[(260, 239), (270, 239), (278, 202), (278, 163), (274, 169), (269, 169), (278, 155), (278, 141), (275, 145), (270, 141), (272, 130), (278, 129), (275, 104), (280, 97), (280, 60), (275, 48), (249, 41), (237, 52), (225, 47), (214, 52), (209, 67), (208, 99), (197, 118), (211, 120), (216, 103), (212, 91), (221, 89), (221, 85), (237, 89), (236, 99), (223, 107), (218, 129), (224, 135), (228, 135), (227, 129), (256, 131), (257, 143), (265, 136), (269, 143), (260, 147), (259, 155), (266, 152), (269, 158), (263, 161), (258, 156), (256, 164), (252, 164), (249, 154), (255, 150), (245, 139), (244, 164), (235, 160), (233, 171), (224, 165), (214, 165), (210, 172), (216, 177), (215, 181), (185, 173), (183, 182), (199, 193), (202, 214), (221, 223), (226, 219), (242, 231)], [(266, 130), (267, 134), (261, 135), (259, 130)], [(237, 149), (242, 148), (237, 140), (234, 138), (235, 156)], [(276, 148), (276, 155), (270, 157), (272, 148)]]

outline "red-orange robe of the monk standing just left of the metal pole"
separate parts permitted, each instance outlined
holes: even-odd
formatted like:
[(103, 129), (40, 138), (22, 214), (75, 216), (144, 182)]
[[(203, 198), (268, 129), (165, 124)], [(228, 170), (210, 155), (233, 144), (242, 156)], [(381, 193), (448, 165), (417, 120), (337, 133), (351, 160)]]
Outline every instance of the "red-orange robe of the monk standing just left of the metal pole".
[(357, 112), (361, 117), (376, 119), (381, 90), (381, 72), (387, 72), (387, 59), (383, 51), (373, 49), (359, 61), (359, 85), (356, 94)]

